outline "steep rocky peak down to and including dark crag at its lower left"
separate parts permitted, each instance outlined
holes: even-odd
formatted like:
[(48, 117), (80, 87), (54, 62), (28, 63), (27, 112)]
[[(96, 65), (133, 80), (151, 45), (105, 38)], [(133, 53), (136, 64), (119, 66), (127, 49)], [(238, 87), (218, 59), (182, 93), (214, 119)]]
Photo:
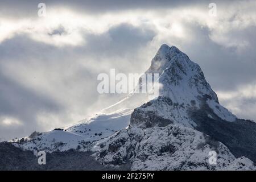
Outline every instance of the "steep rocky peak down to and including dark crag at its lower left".
[(195, 128), (197, 124), (188, 111), (200, 109), (202, 101), (207, 102), (218, 118), (236, 121), (236, 116), (218, 103), (199, 65), (176, 47), (162, 45), (146, 73), (159, 73), (160, 96), (136, 108), (131, 115), (131, 125), (141, 121), (141, 127), (174, 123)]

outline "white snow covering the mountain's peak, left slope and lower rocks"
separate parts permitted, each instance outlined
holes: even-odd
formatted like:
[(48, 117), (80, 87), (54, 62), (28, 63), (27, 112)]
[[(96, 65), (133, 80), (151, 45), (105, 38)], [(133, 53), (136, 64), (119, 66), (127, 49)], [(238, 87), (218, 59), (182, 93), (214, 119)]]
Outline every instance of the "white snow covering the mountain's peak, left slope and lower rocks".
[[(117, 104), (77, 125), (66, 127), (63, 131), (49, 131), (34, 139), (25, 138), (24, 143), (18, 143), (17, 140), (14, 145), (23, 150), (46, 152), (79, 147), (80, 151), (96, 152), (93, 156), (102, 164), (112, 165), (118, 160), (125, 163), (127, 155), (130, 155), (134, 170), (255, 169), (249, 159), (236, 159), (224, 144), (216, 142), (216, 148), (207, 143), (204, 134), (195, 130), (196, 123), (189, 118), (187, 110), (199, 109), (205, 96), (214, 114), (225, 121), (236, 121), (235, 115), (217, 103), (217, 95), (205, 80), (199, 65), (176, 47), (163, 45), (145, 73), (159, 73), (159, 94), (162, 98), (168, 98), (172, 104), (155, 99), (145, 106), (142, 104), (148, 102), (146, 94), (131, 93)], [(139, 125), (129, 126), (135, 108), (144, 119), (147, 119), (147, 112), (152, 111), (173, 123), (146, 129), (141, 129)], [(208, 117), (214, 118), (211, 114)], [(114, 144), (111, 150), (110, 144)], [(169, 144), (174, 147), (174, 153), (161, 152)], [(218, 165), (214, 167), (206, 162), (211, 150), (220, 152)], [(106, 154), (100, 157), (102, 151), (106, 151)]]

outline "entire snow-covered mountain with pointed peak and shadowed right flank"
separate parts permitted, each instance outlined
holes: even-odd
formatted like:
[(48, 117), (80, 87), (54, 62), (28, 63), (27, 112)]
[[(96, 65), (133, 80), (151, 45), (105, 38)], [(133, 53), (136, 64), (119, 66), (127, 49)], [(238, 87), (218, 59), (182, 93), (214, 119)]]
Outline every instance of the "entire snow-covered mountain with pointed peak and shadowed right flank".
[[(198, 64), (164, 44), (145, 73), (159, 73), (159, 97), (131, 93), (75, 126), (13, 144), (35, 152), (93, 151), (104, 165), (131, 169), (256, 169), (256, 123), (219, 104)], [(217, 152), (215, 166), (209, 151)]]

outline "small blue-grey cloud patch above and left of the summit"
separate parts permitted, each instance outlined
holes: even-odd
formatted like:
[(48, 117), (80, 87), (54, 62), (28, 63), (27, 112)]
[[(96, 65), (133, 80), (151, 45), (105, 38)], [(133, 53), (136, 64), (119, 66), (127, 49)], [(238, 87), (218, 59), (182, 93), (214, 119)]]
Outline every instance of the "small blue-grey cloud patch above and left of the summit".
[(155, 36), (155, 32), (149, 28), (134, 27), (131, 24), (119, 24), (100, 35), (87, 35), (88, 46), (82, 47), (82, 51), (88, 53), (103, 53), (108, 56), (123, 56), (124, 54), (136, 54), (138, 48), (145, 46)]

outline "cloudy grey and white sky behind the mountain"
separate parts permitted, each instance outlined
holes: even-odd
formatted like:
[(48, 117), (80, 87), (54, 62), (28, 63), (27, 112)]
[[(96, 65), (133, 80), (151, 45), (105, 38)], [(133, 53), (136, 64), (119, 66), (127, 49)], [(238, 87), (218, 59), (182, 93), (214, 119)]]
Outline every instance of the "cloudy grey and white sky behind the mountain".
[(98, 94), (97, 75), (143, 73), (163, 43), (200, 65), (222, 105), (256, 120), (256, 1), (1, 0), (0, 138), (113, 104), (120, 96)]

